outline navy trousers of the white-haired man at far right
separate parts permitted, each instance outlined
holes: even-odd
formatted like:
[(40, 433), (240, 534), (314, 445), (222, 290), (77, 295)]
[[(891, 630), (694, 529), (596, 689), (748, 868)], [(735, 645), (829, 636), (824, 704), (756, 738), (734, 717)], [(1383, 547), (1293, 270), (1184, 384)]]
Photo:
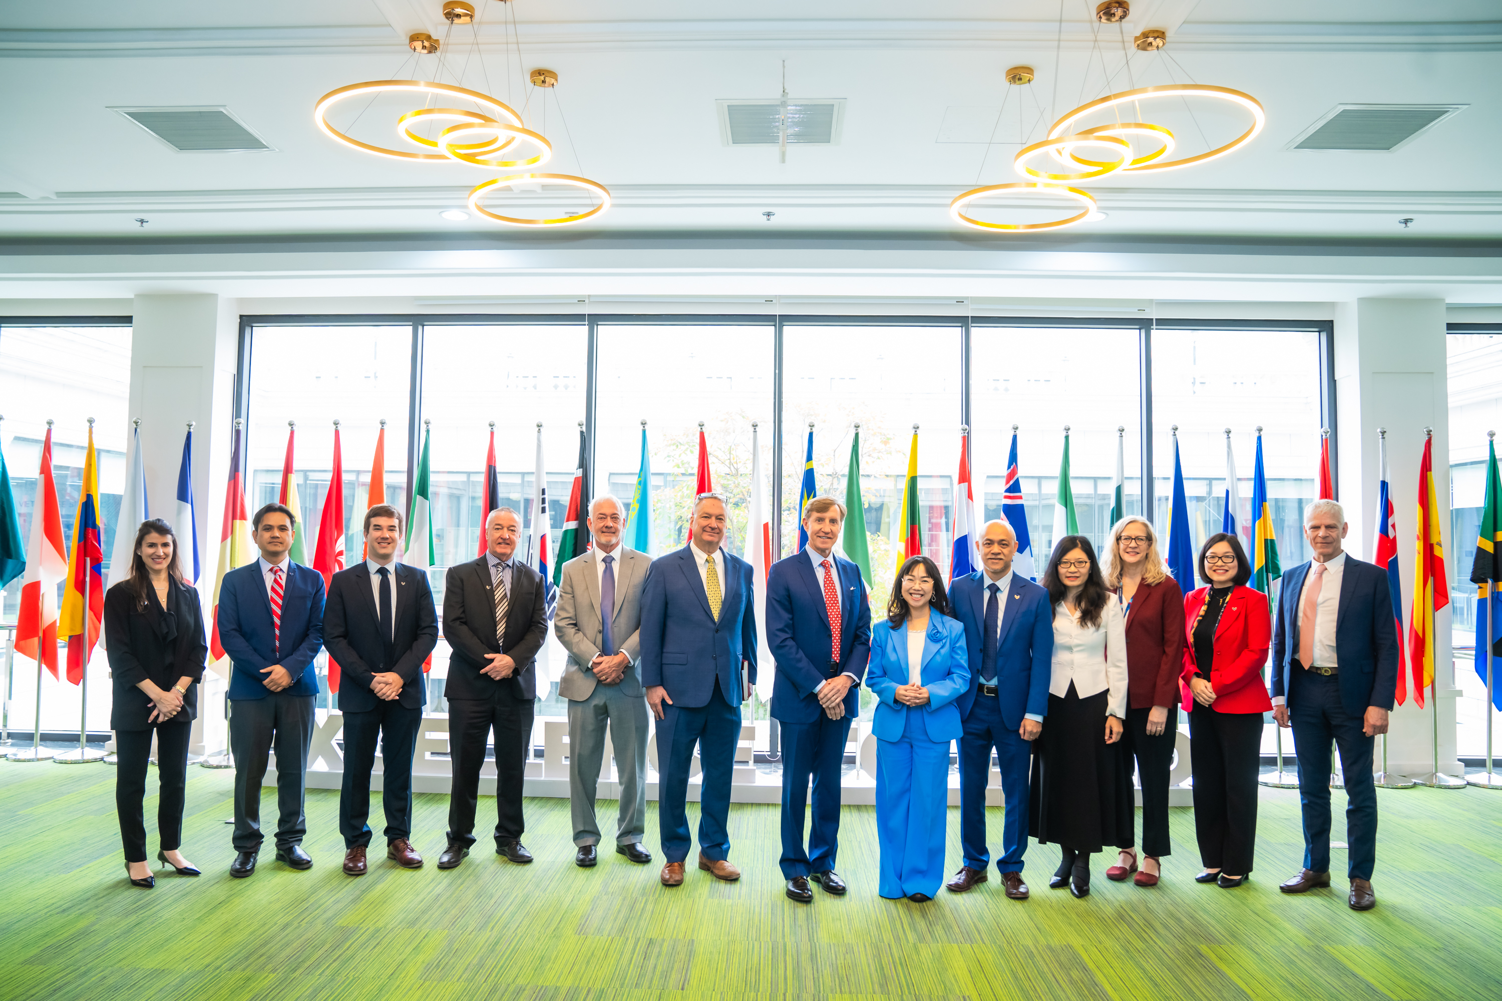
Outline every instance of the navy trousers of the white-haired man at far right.
[(1374, 737), (1362, 719), (1340, 704), (1340, 678), (1289, 671), (1289, 722), (1299, 759), (1299, 806), (1304, 810), (1304, 867), (1329, 872), (1329, 741), (1340, 750), (1346, 780), (1347, 875), (1370, 879), (1377, 864), (1377, 789), (1371, 783)]

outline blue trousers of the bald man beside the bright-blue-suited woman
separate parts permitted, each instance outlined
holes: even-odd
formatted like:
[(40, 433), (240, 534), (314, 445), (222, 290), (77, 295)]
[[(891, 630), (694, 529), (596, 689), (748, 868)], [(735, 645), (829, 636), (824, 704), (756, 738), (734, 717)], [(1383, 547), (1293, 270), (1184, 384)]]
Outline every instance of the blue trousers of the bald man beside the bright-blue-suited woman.
[(1002, 705), (994, 696), (976, 692), (960, 738), (960, 843), (964, 864), (985, 870), (991, 855), (985, 849), (985, 783), (991, 773), (991, 749), (1002, 771), (1002, 857), (997, 872), (1021, 872), (1027, 851), (1027, 776), (1032, 744), (1015, 728), (1002, 722)]

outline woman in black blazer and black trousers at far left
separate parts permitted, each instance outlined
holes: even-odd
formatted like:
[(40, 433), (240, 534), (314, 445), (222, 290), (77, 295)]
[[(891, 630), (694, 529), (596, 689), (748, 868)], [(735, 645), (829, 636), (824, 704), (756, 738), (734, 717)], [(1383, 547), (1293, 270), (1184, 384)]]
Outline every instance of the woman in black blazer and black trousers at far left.
[(114, 680), (110, 728), (119, 758), (114, 806), (125, 842), (125, 870), (132, 885), (156, 885), (146, 860), (146, 765), (156, 737), (161, 800), (156, 858), (180, 875), (198, 870), (177, 851), (182, 843), (183, 794), (188, 783), (188, 735), (198, 714), (198, 681), (207, 662), (203, 608), (183, 581), (177, 536), (159, 518), (135, 533), (131, 573), (104, 599), (104, 635)]

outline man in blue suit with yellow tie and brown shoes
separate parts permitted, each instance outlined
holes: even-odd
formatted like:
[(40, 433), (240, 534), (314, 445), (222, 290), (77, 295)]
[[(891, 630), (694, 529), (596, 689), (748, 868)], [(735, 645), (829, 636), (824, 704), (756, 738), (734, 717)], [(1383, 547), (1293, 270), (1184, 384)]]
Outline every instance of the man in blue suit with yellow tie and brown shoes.
[(647, 570), (641, 585), (641, 684), (658, 719), (662, 885), (683, 882), (692, 845), (688, 771), (694, 746), (703, 767), (698, 797), (698, 867), (739, 879), (730, 864), (730, 780), (740, 741), (740, 702), (756, 683), (756, 606), (751, 566), (724, 549), (725, 501), (694, 500), (692, 542)]

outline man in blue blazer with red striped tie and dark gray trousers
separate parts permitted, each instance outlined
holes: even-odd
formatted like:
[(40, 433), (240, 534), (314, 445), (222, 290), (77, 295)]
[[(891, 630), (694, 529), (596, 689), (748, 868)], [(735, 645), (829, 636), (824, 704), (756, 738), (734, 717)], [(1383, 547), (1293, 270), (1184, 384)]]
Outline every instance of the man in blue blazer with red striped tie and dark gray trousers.
[(276, 749), (276, 860), (308, 869), (308, 747), (323, 647), (323, 575), (287, 552), (296, 518), (267, 504), (252, 519), (261, 557), (219, 584), (219, 645), (230, 656), (230, 753), (234, 755), (234, 861), (230, 875), (255, 872), (261, 849), (261, 780)]

